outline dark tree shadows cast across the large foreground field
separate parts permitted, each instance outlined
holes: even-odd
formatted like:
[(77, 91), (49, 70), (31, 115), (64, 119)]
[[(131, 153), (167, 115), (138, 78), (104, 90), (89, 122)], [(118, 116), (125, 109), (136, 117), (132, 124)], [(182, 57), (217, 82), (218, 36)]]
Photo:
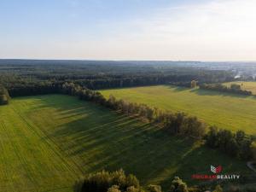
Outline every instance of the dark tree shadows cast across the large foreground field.
[[(56, 99), (58, 102), (52, 105)], [(60, 120), (71, 119), (55, 129), (44, 127), (48, 133), (45, 139), (53, 139), (84, 173), (123, 168), (143, 184), (161, 184), (167, 189), (175, 176), (196, 183), (191, 175), (211, 174), (211, 165), (223, 166), (224, 172), (238, 173), (246, 169), (244, 162), (232, 160), (200, 143), (171, 137), (157, 127), (93, 103), (74, 101), (68, 96), (53, 96), (43, 98), (39, 108), (51, 106), (60, 114)], [(45, 121), (50, 119), (51, 114)]]

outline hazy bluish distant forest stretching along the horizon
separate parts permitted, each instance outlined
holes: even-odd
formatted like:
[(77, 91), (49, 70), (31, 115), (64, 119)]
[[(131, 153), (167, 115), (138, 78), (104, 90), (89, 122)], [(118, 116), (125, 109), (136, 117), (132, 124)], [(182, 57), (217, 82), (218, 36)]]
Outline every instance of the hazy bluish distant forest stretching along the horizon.
[[(198, 79), (201, 82), (231, 81), (236, 73), (198, 67), (200, 63), (183, 61), (58, 61), (1, 60), (1, 76), (10, 74), (23, 79), (79, 80), (179, 77), (177, 81)], [(172, 78), (173, 79), (173, 78)]]

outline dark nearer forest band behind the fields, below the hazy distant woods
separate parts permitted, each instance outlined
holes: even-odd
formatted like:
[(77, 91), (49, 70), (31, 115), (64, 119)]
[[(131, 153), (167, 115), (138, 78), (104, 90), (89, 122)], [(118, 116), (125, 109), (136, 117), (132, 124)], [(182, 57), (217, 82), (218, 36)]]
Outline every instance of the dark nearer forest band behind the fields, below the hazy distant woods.
[[(208, 77), (210, 78), (210, 77)], [(10, 93), (10, 96), (26, 96), (50, 93), (55, 91), (55, 84), (63, 84), (65, 82), (73, 82), (80, 86), (87, 87), (90, 90), (100, 90), (109, 88), (125, 88), (135, 86), (157, 85), (157, 84), (173, 84), (177, 86), (188, 86), (193, 79), (201, 79), (201, 82), (208, 82), (207, 77), (199, 78), (196, 75), (166, 75), (166, 74), (142, 74), (141, 76), (131, 75), (112, 75), (112, 76), (98, 76), (98, 77), (84, 77), (84, 79), (55, 78), (55, 79), (41, 79), (37, 78), (23, 78), (19, 76), (7, 75), (0, 77), (0, 84), (2, 83)]]

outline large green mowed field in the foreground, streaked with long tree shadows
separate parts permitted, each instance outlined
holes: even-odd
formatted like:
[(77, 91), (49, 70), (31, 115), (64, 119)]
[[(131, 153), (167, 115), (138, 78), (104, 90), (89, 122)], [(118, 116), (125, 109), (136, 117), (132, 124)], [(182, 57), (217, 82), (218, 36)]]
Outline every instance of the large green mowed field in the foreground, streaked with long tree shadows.
[[(167, 89), (167, 88), (165, 88)], [(72, 96), (20, 97), (0, 107), (0, 191), (73, 191), (84, 174), (123, 168), (170, 186), (174, 176), (251, 174), (245, 162)]]

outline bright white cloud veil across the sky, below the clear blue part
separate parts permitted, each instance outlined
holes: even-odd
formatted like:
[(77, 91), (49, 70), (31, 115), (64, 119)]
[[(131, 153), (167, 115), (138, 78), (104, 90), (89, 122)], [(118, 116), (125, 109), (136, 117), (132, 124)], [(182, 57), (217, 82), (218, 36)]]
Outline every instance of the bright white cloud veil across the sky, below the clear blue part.
[[(78, 0), (69, 0), (71, 3)], [(8, 47), (2, 55), (60, 59), (256, 61), (256, 0), (155, 9), (137, 20), (96, 23), (102, 35), (56, 38)], [(134, 18), (134, 17), (133, 17)], [(117, 19), (118, 20), (118, 19)], [(22, 44), (24, 47), (26, 43)], [(1, 56), (1, 55), (0, 55)], [(12, 57), (12, 56), (9, 56)]]

